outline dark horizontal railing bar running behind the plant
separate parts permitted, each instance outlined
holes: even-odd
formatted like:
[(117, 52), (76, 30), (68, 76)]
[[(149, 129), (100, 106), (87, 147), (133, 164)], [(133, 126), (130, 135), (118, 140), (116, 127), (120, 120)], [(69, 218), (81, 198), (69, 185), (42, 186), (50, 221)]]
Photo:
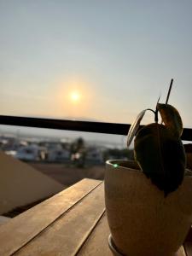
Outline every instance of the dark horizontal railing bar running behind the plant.
[[(87, 131), (116, 135), (127, 135), (131, 125), (90, 122), (67, 119), (43, 119), (0, 115), (0, 125), (17, 125), (26, 127), (48, 128), (67, 131)], [(143, 125), (141, 125), (142, 127)], [(182, 139), (192, 141), (192, 129), (184, 128)]]

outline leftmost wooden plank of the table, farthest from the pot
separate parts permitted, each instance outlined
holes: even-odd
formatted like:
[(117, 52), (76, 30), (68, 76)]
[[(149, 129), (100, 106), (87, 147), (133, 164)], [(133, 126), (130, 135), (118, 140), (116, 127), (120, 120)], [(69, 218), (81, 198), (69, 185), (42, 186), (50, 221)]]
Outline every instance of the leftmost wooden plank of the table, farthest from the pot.
[(84, 179), (3, 224), (0, 227), (0, 255), (15, 253), (100, 183), (98, 180)]

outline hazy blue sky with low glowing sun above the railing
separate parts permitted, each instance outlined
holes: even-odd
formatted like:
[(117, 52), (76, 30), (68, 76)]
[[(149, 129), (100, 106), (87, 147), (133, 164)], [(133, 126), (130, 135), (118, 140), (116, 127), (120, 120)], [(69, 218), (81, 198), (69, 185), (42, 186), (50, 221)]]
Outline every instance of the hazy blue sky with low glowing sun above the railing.
[(131, 124), (174, 79), (191, 128), (191, 24), (187, 0), (0, 0), (0, 114)]

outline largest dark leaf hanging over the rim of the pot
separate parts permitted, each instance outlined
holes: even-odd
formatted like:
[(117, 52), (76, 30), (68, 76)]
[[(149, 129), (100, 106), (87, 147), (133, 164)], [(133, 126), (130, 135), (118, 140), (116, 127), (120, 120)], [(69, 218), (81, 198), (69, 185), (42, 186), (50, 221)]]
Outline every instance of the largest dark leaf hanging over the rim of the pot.
[(182, 183), (186, 162), (183, 143), (165, 125), (154, 123), (138, 131), (135, 158), (144, 174), (165, 195)]

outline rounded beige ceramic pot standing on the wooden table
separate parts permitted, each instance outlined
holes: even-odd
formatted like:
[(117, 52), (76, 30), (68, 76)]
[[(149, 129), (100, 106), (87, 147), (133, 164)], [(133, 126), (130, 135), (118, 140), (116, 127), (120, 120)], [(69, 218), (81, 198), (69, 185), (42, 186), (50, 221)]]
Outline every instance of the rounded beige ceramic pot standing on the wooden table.
[(108, 160), (105, 202), (119, 253), (175, 255), (192, 223), (192, 176), (165, 197), (131, 161)]

